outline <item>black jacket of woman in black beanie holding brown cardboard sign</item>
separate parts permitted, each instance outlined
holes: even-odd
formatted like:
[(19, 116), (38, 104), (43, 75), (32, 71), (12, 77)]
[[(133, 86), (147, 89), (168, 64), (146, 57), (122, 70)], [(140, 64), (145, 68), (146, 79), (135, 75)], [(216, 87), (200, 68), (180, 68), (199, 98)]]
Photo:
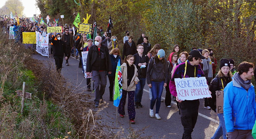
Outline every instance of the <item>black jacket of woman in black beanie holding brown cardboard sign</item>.
[(231, 82), (231, 78), (224, 77), (224, 76), (219, 78), (217, 75), (215, 76), (215, 78), (213, 80), (211, 80), (209, 90), (211, 91), (211, 97), (212, 98), (208, 98), (208, 102), (209, 102), (209, 105), (211, 107), (211, 110), (213, 110), (215, 112), (216, 112), (216, 93), (215, 92), (224, 89), (222, 87), (221, 79), (223, 81), (223, 87), (224, 88), (226, 87), (226, 85), (229, 82)]

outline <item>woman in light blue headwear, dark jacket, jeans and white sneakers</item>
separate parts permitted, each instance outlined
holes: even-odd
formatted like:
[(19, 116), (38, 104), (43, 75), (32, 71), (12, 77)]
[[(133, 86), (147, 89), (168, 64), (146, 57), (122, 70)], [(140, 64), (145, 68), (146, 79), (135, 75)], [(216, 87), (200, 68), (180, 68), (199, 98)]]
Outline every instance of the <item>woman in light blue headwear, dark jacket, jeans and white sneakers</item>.
[(147, 68), (146, 78), (147, 85), (151, 88), (152, 99), (150, 101), (149, 115), (154, 118), (154, 105), (155, 105), (155, 118), (160, 120), (159, 109), (161, 105), (161, 96), (163, 87), (167, 86), (168, 81), (168, 64), (165, 59), (165, 51), (160, 49), (154, 57), (149, 61)]

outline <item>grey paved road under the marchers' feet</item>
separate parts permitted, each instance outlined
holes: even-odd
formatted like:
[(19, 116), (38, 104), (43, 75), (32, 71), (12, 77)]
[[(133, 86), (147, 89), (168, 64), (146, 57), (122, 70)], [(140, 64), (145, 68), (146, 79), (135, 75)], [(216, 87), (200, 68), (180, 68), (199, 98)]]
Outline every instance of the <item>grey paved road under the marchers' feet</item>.
[[(50, 53), (50, 52), (49, 52)], [(34, 59), (38, 59), (41, 61), (52, 61), (54, 63), (53, 55), (50, 57), (43, 57), (40, 54), (33, 55)], [(70, 57), (69, 65), (65, 65), (65, 60), (63, 60), (63, 68), (62, 75), (67, 79), (67, 81), (72, 82), (74, 86), (81, 85), (78, 88), (86, 86), (86, 80), (83, 78), (82, 69), (78, 68), (79, 61), (73, 57)], [(103, 95), (104, 101), (109, 103), (109, 105), (103, 110), (99, 110), (98, 115), (101, 116), (99, 122), (103, 125), (109, 125), (113, 127), (112, 131), (120, 131), (120, 127), (124, 128), (125, 133), (129, 133), (129, 122), (128, 122), (128, 112), (126, 105), (126, 115), (125, 118), (120, 118), (119, 116), (116, 119), (117, 108), (113, 106), (113, 102), (109, 102), (109, 82), (107, 79), (107, 85), (105, 89), (105, 94)], [(91, 92), (86, 92), (90, 93)], [(165, 88), (163, 89), (162, 96), (164, 97), (166, 94)], [(93, 101), (92, 97), (92, 101)], [(199, 116), (197, 119), (197, 124), (195, 125), (194, 131), (192, 133), (193, 139), (209, 139), (213, 136), (215, 130), (218, 127), (218, 118), (214, 111), (206, 110), (203, 108), (204, 101), (200, 100), (199, 106)], [(152, 136), (152, 139), (181, 139), (183, 133), (183, 127), (181, 125), (180, 115), (177, 109), (176, 102), (172, 102), (172, 107), (167, 108), (165, 103), (161, 103), (159, 115), (161, 116), (161, 120), (157, 120), (155, 118), (150, 118), (149, 116), (149, 108), (150, 108), (150, 99), (149, 99), (149, 87), (145, 85), (143, 97), (142, 97), (142, 105), (143, 108), (136, 108), (136, 118), (135, 124), (131, 124), (131, 127), (137, 131), (144, 127), (147, 127), (143, 133), (142, 137)], [(92, 109), (98, 110), (98, 108)], [(155, 107), (154, 107), (155, 111)], [(119, 114), (118, 114), (119, 115)], [(117, 123), (116, 123), (117, 121)], [(106, 133), (109, 131), (106, 131)]]

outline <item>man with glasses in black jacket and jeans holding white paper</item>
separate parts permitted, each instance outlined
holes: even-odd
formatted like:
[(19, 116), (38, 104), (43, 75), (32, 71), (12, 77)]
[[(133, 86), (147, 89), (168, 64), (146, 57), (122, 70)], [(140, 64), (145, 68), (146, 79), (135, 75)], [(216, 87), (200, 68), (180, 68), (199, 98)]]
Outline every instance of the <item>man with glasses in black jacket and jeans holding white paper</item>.
[(136, 85), (135, 96), (134, 96), (135, 108), (143, 107), (143, 105), (141, 105), (141, 99), (143, 94), (143, 88), (146, 83), (147, 66), (149, 64), (149, 57), (146, 54), (143, 54), (144, 47), (142, 44), (137, 45), (137, 51), (138, 53), (133, 55), (134, 64), (138, 69), (138, 78), (139, 78), (139, 82)]

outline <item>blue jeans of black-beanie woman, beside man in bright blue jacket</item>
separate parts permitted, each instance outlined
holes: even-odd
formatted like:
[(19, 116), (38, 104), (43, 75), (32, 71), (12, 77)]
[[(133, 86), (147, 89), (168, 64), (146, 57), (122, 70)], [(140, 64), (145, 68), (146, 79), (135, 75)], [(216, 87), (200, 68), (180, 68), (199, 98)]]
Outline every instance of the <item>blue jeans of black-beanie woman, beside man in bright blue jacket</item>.
[(215, 131), (213, 137), (211, 139), (219, 139), (221, 136), (223, 136), (223, 139), (227, 139), (226, 137), (226, 127), (225, 127), (225, 121), (224, 121), (224, 114), (223, 113), (218, 113), (218, 118), (219, 118), (219, 126), (217, 130)]

